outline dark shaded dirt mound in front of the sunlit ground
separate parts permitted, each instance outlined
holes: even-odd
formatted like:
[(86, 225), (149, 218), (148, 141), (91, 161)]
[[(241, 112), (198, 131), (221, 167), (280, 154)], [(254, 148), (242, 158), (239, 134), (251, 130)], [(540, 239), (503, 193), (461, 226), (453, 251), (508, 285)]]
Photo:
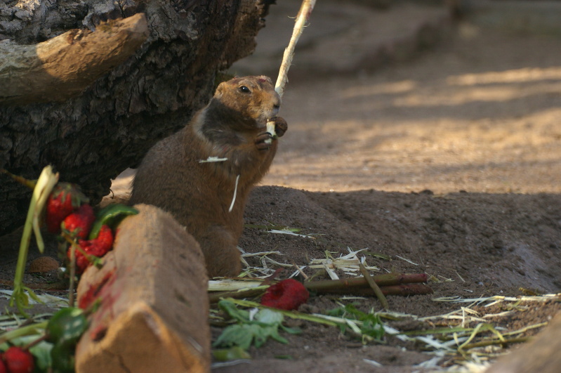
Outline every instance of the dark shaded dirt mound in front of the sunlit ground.
[[(253, 191), (246, 210), (247, 224), (300, 228), (301, 235), (319, 235), (310, 238), (246, 228), (239, 246), (249, 253), (280, 251), (282, 254), (274, 257), (276, 261), (298, 266), (305, 266), (311, 259), (324, 259), (326, 251), (338, 257), (348, 254), (348, 248), (367, 248), (362, 254), (369, 265), (380, 268), (380, 273), (428, 273), (440, 280), (429, 282), (434, 294), (388, 297), (390, 310), (423, 318), (460, 309), (457, 303), (434, 301), (446, 296), (469, 299), (522, 295), (520, 288), (558, 291), (560, 204), (561, 196), (553, 194), (308, 192), (267, 186)], [(378, 253), (391, 260), (369, 255)], [(262, 266), (257, 259), (248, 262), (250, 266)], [(292, 272), (293, 269), (285, 270), (284, 275)], [(303, 272), (312, 275), (315, 270), (304, 267)], [(337, 273), (348, 277), (342, 271)], [(324, 312), (338, 307), (340, 302), (338, 296), (312, 296), (305, 310)], [(381, 309), (372, 298), (343, 301), (352, 302), (365, 312)], [(501, 306), (475, 309), (480, 318), (505, 310)], [(545, 303), (532, 308), (532, 312), (491, 320), (513, 331), (547, 322), (559, 310), (559, 303)], [(440, 322), (447, 326), (460, 323)], [(406, 331), (430, 329), (435, 323), (407, 318), (389, 325)], [(464, 323), (465, 327), (475, 325), (476, 322)], [(388, 346), (362, 346), (336, 328), (305, 322), (298, 326), (303, 328), (303, 334), (284, 334), (288, 344), (270, 341), (251, 351), (251, 363), (216, 372), (364, 372), (371, 365), (363, 359), (381, 363), (383, 368), (378, 367), (376, 372), (413, 372), (420, 369), (414, 365), (431, 358), (422, 353), (424, 346), (404, 343), (393, 336), (387, 337)], [(215, 336), (220, 331), (213, 329)], [(441, 364), (452, 362), (451, 358), (448, 362), (443, 359)]]

